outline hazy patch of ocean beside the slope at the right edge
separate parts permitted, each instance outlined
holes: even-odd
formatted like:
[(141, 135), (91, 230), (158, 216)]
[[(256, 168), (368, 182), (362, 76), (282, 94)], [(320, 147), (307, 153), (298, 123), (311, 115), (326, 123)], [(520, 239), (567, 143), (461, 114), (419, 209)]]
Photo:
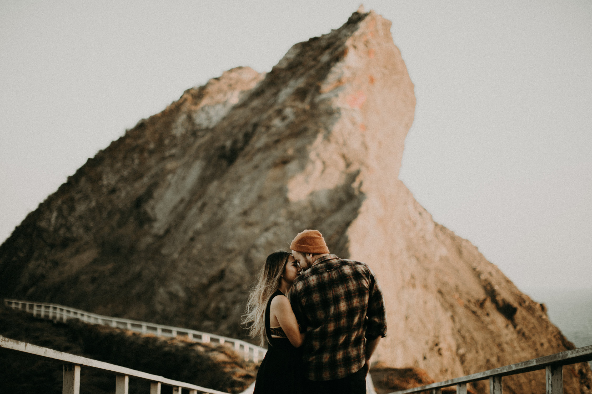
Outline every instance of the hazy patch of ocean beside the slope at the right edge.
[(592, 289), (530, 288), (523, 292), (547, 306), (549, 319), (575, 347), (592, 345)]

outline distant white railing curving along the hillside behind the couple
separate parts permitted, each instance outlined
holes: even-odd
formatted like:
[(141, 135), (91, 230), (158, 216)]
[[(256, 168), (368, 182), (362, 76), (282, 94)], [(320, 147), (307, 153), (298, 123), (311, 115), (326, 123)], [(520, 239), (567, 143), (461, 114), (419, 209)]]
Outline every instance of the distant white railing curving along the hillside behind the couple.
[(263, 347), (255, 346), (252, 343), (236, 338), (223, 337), (216, 334), (202, 333), (201, 331), (189, 330), (188, 328), (172, 327), (170, 325), (147, 323), (119, 317), (98, 315), (96, 313), (82, 311), (76, 308), (65, 307), (64, 305), (50, 304), (48, 302), (31, 302), (20, 299), (4, 299), (5, 305), (13, 309), (33, 314), (34, 317), (47, 318), (55, 321), (68, 319), (79, 319), (85, 323), (107, 325), (109, 327), (124, 328), (137, 331), (143, 334), (155, 334), (159, 337), (183, 337), (191, 341), (201, 343), (219, 343), (231, 345), (234, 350), (244, 354), (244, 360), (252, 360), (258, 363), (267, 352)]

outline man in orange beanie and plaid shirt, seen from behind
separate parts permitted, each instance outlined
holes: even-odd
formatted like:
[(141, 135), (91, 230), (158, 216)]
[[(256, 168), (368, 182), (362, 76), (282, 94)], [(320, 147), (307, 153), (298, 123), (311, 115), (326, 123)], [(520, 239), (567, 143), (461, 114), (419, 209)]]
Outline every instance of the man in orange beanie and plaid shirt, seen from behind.
[(303, 273), (294, 281), (292, 310), (306, 336), (305, 393), (366, 393), (369, 360), (387, 333), (382, 291), (374, 272), (329, 254), (317, 230), (290, 245)]

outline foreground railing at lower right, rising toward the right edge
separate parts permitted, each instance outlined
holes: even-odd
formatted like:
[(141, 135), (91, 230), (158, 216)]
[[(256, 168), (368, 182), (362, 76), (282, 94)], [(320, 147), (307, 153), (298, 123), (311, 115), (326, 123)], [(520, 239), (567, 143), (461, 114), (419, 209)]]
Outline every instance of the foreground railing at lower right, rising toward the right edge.
[(444, 382), (432, 383), (430, 385), (420, 386), (413, 389), (399, 390), (389, 394), (410, 394), (422, 391), (427, 392), (429, 390), (431, 390), (432, 394), (439, 394), (442, 388), (454, 385), (456, 385), (457, 394), (466, 394), (466, 383), (485, 379), (489, 379), (490, 394), (502, 394), (501, 378), (503, 376), (517, 375), (519, 373), (532, 372), (540, 369), (546, 370), (546, 393), (563, 394), (563, 366), (583, 363), (590, 360), (592, 360), (592, 345), (580, 347), (579, 349), (562, 351), (561, 353), (551, 354), (550, 356), (539, 357), (538, 359), (490, 369), (472, 375), (456, 377), (455, 379), (445, 380)]

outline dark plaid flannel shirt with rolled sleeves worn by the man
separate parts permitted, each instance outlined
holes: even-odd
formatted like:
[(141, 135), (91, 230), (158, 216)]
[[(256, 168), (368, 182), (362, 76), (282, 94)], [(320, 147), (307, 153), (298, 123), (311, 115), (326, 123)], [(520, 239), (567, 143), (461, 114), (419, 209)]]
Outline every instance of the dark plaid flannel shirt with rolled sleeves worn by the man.
[(291, 300), (306, 330), (304, 376), (310, 380), (356, 372), (365, 360), (364, 337), (386, 336), (382, 291), (365, 263), (323, 256), (294, 281)]

